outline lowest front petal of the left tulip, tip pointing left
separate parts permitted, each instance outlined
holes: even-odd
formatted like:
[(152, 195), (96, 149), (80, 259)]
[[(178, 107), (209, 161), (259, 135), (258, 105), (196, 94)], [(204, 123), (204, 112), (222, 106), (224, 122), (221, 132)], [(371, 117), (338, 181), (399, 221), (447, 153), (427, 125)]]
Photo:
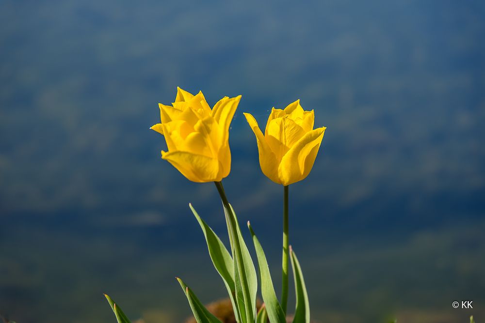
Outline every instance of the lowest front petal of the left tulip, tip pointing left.
[(162, 158), (172, 164), (187, 179), (198, 182), (220, 182), (219, 161), (216, 158), (188, 152), (164, 152)]

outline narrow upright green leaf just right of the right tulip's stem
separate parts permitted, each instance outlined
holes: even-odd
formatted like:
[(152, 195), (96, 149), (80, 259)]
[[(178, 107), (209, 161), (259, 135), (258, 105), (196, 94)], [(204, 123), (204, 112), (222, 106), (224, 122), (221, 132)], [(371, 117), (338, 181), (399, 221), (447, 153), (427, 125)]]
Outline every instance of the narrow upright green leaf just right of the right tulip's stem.
[(296, 292), (296, 308), (293, 323), (310, 323), (310, 306), (308, 303), (307, 287), (305, 286), (305, 280), (303, 279), (300, 262), (298, 262), (293, 249), (291, 249), (291, 246), (290, 257)]

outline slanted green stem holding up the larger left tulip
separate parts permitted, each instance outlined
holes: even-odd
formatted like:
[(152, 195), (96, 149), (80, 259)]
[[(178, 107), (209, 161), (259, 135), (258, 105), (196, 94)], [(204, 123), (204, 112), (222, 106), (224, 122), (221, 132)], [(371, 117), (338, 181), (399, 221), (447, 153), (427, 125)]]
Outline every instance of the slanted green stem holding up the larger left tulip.
[[(231, 248), (232, 248), (232, 257), (233, 259), (237, 260), (238, 272), (240, 273), (239, 279), (242, 285), (242, 297), (244, 299), (245, 304), (251, 304), (249, 286), (247, 284), (247, 281), (245, 281), (245, 277), (241, 276), (241, 273), (245, 273), (245, 268), (244, 268), (244, 262), (242, 260), (241, 244), (238, 238), (238, 229), (237, 229), (238, 225), (236, 222), (237, 218), (234, 212), (232, 212), (231, 206), (229, 205), (229, 201), (227, 200), (226, 192), (224, 191), (224, 186), (222, 185), (222, 182), (214, 182), (214, 183), (215, 183), (215, 186), (217, 187), (217, 191), (219, 192), (219, 195), (221, 196), (222, 204), (224, 205), (224, 208), (226, 209), (226, 212), (227, 212), (226, 214), (227, 230), (229, 231), (229, 239), (230, 239)], [(246, 307), (246, 311), (245, 311), (246, 320), (247, 320), (246, 322), (253, 323), (254, 313), (249, 308), (250, 307)]]

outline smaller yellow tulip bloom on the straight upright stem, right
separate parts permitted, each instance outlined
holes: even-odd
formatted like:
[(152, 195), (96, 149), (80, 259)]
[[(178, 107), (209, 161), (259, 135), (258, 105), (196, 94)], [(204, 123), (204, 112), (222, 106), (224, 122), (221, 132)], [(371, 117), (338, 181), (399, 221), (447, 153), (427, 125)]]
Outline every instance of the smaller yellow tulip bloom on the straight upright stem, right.
[(264, 135), (251, 114), (244, 113), (244, 116), (256, 135), (259, 165), (264, 175), (285, 186), (308, 176), (326, 129), (313, 129), (313, 110), (303, 110), (300, 100), (284, 110), (273, 108)]

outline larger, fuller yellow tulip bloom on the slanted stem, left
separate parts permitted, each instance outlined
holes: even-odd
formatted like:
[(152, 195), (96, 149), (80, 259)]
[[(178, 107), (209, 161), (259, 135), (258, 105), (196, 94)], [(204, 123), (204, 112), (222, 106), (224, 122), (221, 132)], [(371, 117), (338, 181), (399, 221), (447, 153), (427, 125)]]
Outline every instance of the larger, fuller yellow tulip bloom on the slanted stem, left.
[(220, 182), (231, 170), (229, 125), (240, 100), (225, 96), (211, 109), (202, 92), (177, 88), (172, 106), (159, 103), (162, 123), (150, 127), (165, 137), (162, 158), (193, 182)]

